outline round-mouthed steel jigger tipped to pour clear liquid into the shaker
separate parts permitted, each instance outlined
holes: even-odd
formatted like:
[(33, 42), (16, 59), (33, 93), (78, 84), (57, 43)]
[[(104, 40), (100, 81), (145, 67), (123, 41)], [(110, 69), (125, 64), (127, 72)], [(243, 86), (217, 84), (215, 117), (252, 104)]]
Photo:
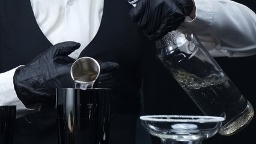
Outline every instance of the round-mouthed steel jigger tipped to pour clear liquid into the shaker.
[(93, 85), (100, 74), (100, 65), (93, 58), (82, 57), (73, 63), (70, 73), (76, 83)]

